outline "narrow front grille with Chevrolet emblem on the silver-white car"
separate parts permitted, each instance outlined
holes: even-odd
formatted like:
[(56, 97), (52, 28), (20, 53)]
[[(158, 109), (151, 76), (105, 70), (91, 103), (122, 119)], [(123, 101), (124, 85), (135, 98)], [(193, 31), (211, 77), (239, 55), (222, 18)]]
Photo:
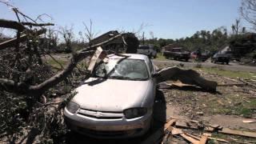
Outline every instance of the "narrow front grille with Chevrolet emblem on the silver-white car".
[(96, 119), (122, 119), (123, 117), (122, 112), (96, 111), (96, 110), (86, 110), (86, 109), (78, 110), (78, 114), (89, 117), (89, 118), (96, 118)]

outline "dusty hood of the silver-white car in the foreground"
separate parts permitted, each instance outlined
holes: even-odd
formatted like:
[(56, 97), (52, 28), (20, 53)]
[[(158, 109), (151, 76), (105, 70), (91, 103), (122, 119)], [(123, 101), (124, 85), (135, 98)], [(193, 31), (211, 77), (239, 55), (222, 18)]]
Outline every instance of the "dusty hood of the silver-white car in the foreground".
[(122, 111), (142, 105), (149, 81), (89, 78), (71, 100), (87, 110)]

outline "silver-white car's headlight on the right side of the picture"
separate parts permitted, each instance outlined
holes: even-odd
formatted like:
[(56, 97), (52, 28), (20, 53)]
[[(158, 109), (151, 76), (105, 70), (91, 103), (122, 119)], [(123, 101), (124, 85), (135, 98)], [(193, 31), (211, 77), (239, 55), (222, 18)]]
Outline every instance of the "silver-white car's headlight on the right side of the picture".
[(126, 118), (138, 118), (142, 115), (145, 115), (147, 112), (145, 107), (138, 107), (138, 108), (130, 108), (123, 111), (123, 114), (125, 114)]

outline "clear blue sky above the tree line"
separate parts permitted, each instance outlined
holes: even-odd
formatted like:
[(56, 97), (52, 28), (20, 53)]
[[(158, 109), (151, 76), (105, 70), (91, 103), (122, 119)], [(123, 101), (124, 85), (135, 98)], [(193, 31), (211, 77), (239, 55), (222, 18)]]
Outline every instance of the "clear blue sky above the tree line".
[[(5, 0), (2, 0), (5, 1)], [(9, 0), (24, 14), (55, 27), (73, 26), (74, 33), (85, 30), (83, 22), (93, 22), (94, 33), (109, 30), (145, 32), (150, 38), (185, 38), (197, 30), (214, 30), (226, 26), (228, 30), (236, 18), (241, 0)], [(15, 14), (0, 3), (0, 18), (16, 20)]]

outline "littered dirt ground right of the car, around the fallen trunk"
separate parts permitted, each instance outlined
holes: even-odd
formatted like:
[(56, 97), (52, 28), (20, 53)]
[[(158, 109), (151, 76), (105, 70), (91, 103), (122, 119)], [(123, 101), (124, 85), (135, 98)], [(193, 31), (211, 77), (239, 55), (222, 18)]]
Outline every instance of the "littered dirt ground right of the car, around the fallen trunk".
[[(204, 78), (214, 80), (221, 86), (218, 86), (216, 93), (209, 93), (191, 86), (162, 89), (161, 91), (166, 101), (167, 119), (172, 117), (185, 122), (196, 120), (236, 130), (256, 132), (256, 122), (242, 122), (243, 120), (256, 118), (256, 90), (254, 87), (226, 86), (228, 84), (242, 84), (242, 82), (239, 82), (236, 78), (231, 79), (217, 74), (206, 74), (201, 70), (198, 70), (198, 72)], [(242, 138), (224, 134), (214, 134), (214, 136), (216, 138), (226, 138), (234, 143), (256, 141), (253, 138)], [(168, 142), (186, 143), (182, 138), (170, 138)], [(216, 143), (214, 141), (210, 142)]]

